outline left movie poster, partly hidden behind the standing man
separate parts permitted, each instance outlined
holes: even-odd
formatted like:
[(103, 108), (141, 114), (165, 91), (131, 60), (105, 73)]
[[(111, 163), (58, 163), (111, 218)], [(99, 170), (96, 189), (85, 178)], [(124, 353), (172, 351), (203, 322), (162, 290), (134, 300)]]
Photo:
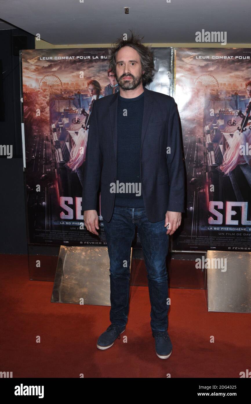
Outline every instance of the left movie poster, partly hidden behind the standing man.
[[(173, 50), (152, 50), (155, 75), (146, 87), (170, 95)], [(93, 102), (119, 91), (107, 59), (108, 48), (21, 52), (30, 244), (106, 245), (100, 200), (100, 236), (85, 229), (81, 201)], [(133, 245), (141, 246), (137, 235)]]

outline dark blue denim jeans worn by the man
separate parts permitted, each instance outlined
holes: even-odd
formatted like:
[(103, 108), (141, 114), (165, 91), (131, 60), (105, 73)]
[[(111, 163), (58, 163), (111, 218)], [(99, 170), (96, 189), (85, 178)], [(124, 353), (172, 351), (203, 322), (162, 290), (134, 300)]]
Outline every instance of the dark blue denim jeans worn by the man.
[[(147, 269), (152, 331), (168, 328), (168, 239), (165, 219), (151, 223), (145, 208), (114, 206), (110, 222), (103, 218), (110, 258), (110, 322), (125, 326), (129, 311), (131, 243), (138, 227)], [(143, 304), (143, 302), (142, 302)]]

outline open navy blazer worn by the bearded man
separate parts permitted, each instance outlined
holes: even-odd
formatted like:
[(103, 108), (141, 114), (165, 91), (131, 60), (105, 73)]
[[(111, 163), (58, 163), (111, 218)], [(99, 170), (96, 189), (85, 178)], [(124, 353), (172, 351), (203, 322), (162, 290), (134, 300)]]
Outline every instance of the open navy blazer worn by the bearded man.
[[(185, 173), (178, 111), (173, 97), (144, 88), (141, 133), (141, 192), (150, 222), (166, 211), (185, 212)], [(117, 107), (119, 93), (93, 102), (83, 178), (82, 210), (97, 209), (101, 180), (101, 215), (110, 221), (117, 179)], [(168, 151), (168, 152), (167, 152)]]

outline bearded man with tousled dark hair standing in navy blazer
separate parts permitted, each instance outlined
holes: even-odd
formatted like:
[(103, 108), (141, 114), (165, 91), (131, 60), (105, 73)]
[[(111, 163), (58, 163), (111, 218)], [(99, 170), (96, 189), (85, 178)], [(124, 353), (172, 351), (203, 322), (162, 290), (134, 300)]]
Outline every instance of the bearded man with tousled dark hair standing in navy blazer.
[(138, 228), (151, 303), (156, 354), (169, 358), (168, 238), (181, 223), (184, 165), (174, 99), (147, 90), (154, 62), (132, 33), (110, 48), (109, 67), (120, 92), (94, 101), (86, 151), (82, 209), (88, 231), (98, 235), (97, 191), (110, 257), (110, 326), (97, 340), (111, 347), (124, 332), (129, 311), (130, 252)]

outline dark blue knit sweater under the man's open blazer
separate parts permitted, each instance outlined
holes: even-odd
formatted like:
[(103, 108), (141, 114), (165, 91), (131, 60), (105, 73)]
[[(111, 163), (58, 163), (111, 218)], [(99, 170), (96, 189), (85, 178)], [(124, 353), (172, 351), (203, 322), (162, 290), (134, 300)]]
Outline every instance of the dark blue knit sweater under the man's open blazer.
[[(134, 183), (123, 193), (116, 193), (115, 205), (129, 208), (143, 208), (144, 201), (140, 178), (140, 149), (141, 130), (144, 110), (144, 93), (135, 98), (124, 98), (118, 95), (118, 155), (117, 181), (120, 183)], [(135, 191), (135, 192), (131, 192)], [(138, 194), (138, 196), (137, 196)]]

